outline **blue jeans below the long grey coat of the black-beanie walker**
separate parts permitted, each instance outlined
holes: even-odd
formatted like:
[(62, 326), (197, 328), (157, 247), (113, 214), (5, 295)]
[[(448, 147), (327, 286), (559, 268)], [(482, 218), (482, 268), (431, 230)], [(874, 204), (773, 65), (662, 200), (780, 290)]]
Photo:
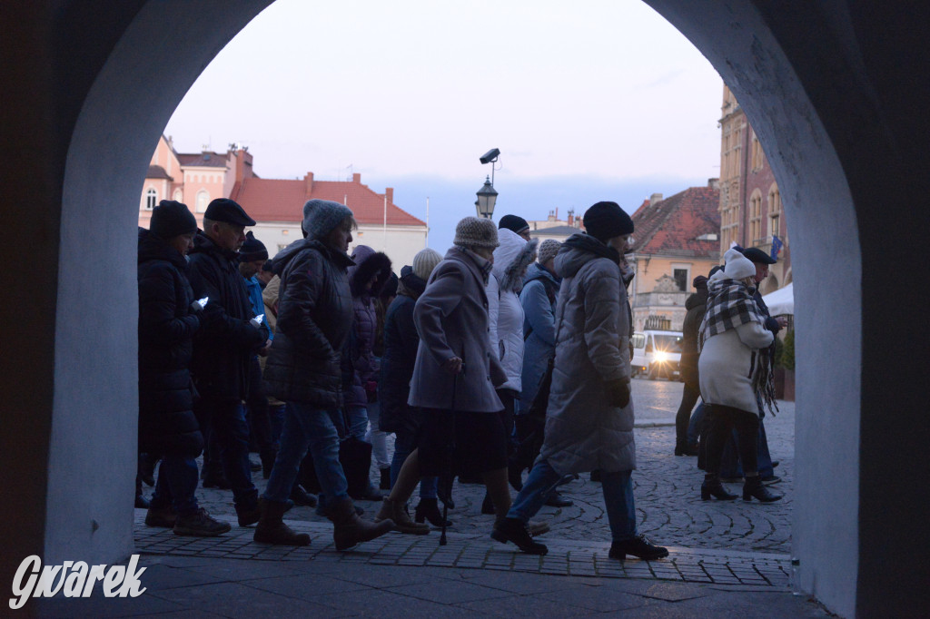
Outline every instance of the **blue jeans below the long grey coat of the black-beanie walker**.
[[(604, 507), (610, 521), (610, 536), (614, 542), (625, 542), (636, 536), (636, 505), (633, 500), (632, 471), (601, 472)], [(537, 460), (524, 482), (523, 490), (513, 500), (507, 518), (526, 522), (546, 503), (546, 496), (562, 480), (549, 461)]]

